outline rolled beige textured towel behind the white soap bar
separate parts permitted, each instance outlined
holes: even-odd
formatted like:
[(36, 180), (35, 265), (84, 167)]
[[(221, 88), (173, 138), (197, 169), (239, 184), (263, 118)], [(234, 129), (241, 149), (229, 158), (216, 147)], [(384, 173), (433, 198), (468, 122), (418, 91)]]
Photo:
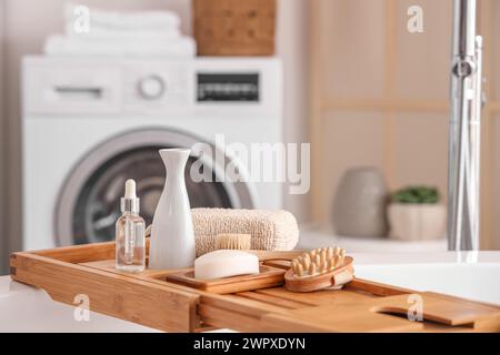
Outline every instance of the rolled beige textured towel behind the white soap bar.
[(221, 233), (251, 235), (251, 248), (289, 251), (299, 241), (297, 220), (288, 211), (192, 209), (197, 237), (197, 255), (216, 250), (216, 236)]

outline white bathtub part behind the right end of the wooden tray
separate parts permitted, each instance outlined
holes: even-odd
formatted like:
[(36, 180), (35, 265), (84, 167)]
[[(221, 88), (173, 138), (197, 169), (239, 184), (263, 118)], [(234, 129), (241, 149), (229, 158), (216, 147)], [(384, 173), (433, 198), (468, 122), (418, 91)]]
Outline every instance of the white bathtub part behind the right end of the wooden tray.
[(500, 252), (354, 254), (356, 276), (500, 305)]

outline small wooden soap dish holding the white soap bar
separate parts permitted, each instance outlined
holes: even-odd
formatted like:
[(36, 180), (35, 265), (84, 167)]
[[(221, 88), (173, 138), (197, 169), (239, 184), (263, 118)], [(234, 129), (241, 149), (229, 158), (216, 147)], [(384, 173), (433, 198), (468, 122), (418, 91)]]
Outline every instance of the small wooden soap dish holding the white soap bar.
[(174, 273), (169, 273), (162, 278), (188, 287), (202, 290), (217, 294), (237, 293), (259, 288), (280, 286), (284, 282), (284, 270), (260, 265), (260, 273), (257, 275), (241, 275), (216, 280), (194, 278), (193, 268), (188, 268)]

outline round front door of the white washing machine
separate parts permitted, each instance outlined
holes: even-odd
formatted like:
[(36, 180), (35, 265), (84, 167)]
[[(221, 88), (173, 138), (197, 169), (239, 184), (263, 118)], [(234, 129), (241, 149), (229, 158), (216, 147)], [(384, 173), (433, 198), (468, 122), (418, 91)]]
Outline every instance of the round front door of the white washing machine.
[[(199, 142), (203, 141), (192, 134), (160, 128), (120, 134), (93, 149), (77, 164), (61, 189), (54, 213), (56, 243), (71, 245), (112, 241), (127, 179), (136, 180), (141, 216), (150, 224), (166, 175), (158, 150), (191, 148)], [(204, 143), (217, 151), (216, 146)], [(190, 156), (186, 169), (191, 207), (254, 207), (247, 183), (223, 182), (221, 179), (226, 165), (234, 162), (228, 159), (203, 162), (203, 169), (210, 169), (203, 171), (203, 176), (211, 175), (212, 179), (194, 182), (189, 172), (196, 161), (197, 158)]]

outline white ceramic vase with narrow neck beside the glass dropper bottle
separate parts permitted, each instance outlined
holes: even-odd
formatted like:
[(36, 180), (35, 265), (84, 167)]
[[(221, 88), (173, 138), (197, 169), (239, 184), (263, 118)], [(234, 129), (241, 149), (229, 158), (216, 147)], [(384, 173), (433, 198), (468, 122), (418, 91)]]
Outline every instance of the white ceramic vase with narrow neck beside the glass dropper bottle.
[(191, 209), (184, 181), (190, 150), (162, 149), (159, 152), (167, 178), (151, 227), (149, 267), (190, 267), (196, 257)]

